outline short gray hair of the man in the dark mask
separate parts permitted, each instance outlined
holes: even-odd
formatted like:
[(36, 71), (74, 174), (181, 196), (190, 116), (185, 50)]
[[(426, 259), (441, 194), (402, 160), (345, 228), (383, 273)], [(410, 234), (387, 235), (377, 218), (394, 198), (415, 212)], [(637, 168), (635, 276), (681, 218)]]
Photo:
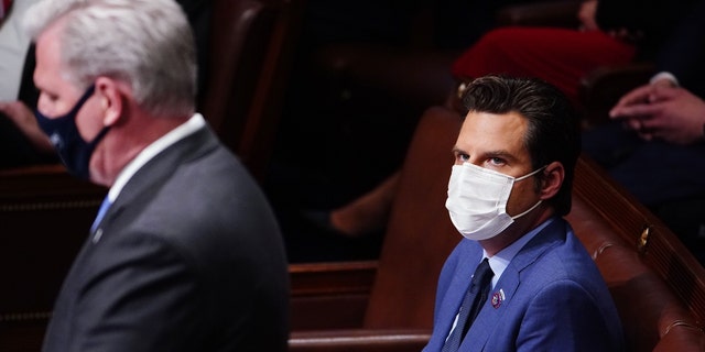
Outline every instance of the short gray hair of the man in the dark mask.
[(72, 84), (85, 89), (106, 76), (130, 85), (150, 113), (194, 112), (194, 36), (174, 0), (43, 0), (28, 10), (24, 26), (36, 40), (59, 20), (61, 59)]

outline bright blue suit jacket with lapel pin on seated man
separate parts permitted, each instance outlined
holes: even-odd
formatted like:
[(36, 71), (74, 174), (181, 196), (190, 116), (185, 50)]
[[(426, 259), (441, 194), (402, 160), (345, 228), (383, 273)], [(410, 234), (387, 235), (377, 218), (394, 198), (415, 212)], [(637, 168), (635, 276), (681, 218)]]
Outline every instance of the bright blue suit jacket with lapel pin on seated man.
[[(447, 258), (438, 279), (433, 336), (424, 351), (441, 351), (481, 256), (482, 248), (464, 239)], [(623, 350), (607, 286), (561, 218), (517, 253), (489, 296), (460, 351)]]

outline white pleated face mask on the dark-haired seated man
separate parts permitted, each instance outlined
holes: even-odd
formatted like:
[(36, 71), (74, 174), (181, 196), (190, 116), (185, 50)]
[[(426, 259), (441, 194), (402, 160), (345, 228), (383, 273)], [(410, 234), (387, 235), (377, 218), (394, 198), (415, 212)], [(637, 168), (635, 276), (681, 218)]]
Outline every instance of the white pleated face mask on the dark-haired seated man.
[(505, 231), (516, 219), (540, 204), (513, 217), (507, 213), (507, 201), (514, 182), (531, 177), (544, 169), (512, 177), (470, 163), (453, 165), (445, 207), (455, 228), (468, 240), (487, 240)]

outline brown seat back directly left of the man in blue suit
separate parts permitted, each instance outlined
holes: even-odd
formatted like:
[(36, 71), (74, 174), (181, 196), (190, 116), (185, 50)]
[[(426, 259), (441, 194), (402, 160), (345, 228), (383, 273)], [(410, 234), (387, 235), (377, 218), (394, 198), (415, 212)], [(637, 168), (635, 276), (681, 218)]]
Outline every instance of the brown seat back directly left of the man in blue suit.
[(445, 210), (459, 127), (460, 117), (445, 108), (431, 108), (420, 120), (400, 176), (366, 328), (433, 326), (441, 267), (460, 240)]

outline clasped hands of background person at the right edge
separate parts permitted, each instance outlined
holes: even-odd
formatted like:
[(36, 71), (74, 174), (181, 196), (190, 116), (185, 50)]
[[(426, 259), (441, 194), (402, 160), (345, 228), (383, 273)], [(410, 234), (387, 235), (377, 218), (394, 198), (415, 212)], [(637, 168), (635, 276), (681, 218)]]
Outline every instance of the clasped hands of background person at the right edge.
[(638, 87), (625, 95), (609, 112), (622, 119), (643, 140), (691, 144), (703, 140), (705, 101), (665, 81)]

